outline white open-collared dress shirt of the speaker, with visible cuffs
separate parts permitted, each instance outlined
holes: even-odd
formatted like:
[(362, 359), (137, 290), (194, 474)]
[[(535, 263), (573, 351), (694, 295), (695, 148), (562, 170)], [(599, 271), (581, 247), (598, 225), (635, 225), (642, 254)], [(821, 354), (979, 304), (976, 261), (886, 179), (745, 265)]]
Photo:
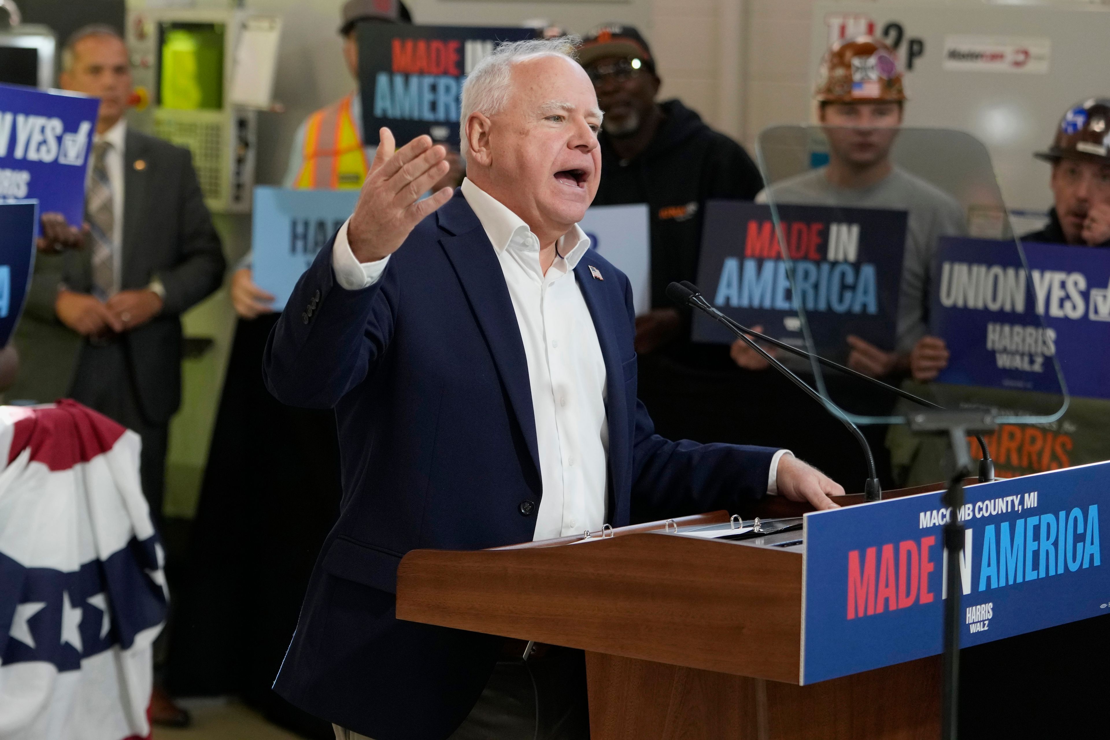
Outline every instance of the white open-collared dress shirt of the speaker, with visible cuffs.
[[(577, 225), (557, 244), (546, 274), (539, 241), (528, 225), (471, 180), (463, 196), (482, 223), (501, 263), (524, 342), (536, 422), (543, 496), (534, 539), (597, 531), (605, 524), (609, 428), (605, 414), (605, 359), (594, 320), (575, 280), (574, 267), (589, 249)], [(340, 286), (356, 291), (381, 277), (390, 257), (360, 263), (344, 223), (332, 247)], [(770, 466), (774, 493), (779, 450)]]

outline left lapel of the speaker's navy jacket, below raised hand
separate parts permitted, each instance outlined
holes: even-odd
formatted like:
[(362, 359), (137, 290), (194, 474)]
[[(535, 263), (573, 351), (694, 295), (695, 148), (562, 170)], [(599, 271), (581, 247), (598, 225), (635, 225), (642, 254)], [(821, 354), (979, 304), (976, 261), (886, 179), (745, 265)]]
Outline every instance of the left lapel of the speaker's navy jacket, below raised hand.
[(538, 481), (539, 446), (536, 443), (528, 361), (524, 354), (521, 327), (516, 323), (516, 311), (508, 295), (501, 263), (482, 229), (482, 222), (474, 215), (462, 191), (455, 191), (455, 196), (440, 209), (436, 219), (440, 227), (446, 232), (440, 244), (454, 266), (471, 310), (482, 327), (501, 382), (528, 445)]

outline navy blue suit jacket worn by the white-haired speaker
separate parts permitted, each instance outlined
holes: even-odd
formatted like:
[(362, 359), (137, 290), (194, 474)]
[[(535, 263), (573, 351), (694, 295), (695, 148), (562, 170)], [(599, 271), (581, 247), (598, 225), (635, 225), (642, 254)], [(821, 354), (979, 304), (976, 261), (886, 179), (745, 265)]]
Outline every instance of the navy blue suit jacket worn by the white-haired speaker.
[[(442, 740), (477, 700), (500, 640), (396, 619), (397, 564), (415, 548), (533, 538), (543, 490), (524, 344), (496, 254), (460, 191), (376, 284), (344, 290), (331, 265), (329, 244), (265, 353), (279, 399), (335, 408), (343, 468), (340, 519), (274, 688), (377, 740)], [(608, 523), (763, 496), (775, 450), (654, 434), (636, 399), (628, 280), (593, 251), (575, 276), (605, 358)]]

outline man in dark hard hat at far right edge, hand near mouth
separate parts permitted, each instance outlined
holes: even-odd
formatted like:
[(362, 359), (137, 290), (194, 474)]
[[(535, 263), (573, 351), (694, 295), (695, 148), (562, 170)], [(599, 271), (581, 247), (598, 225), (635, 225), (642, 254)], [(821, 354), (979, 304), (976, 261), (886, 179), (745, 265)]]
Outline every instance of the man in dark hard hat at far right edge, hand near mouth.
[(1110, 99), (1091, 98), (1068, 109), (1056, 139), (1035, 154), (1052, 165), (1052, 209), (1045, 229), (1027, 242), (1110, 246)]

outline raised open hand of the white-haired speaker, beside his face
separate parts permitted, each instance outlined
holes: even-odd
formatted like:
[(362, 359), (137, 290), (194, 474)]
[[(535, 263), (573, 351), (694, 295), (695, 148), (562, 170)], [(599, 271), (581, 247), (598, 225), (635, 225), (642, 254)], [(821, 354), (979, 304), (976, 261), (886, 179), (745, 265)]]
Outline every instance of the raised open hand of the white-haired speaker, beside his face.
[(347, 223), (347, 243), (359, 262), (377, 262), (394, 252), (427, 214), (451, 199), (443, 187), (423, 201), (450, 170), (447, 150), (417, 136), (394, 151), (393, 133), (383, 128), (377, 154)]

